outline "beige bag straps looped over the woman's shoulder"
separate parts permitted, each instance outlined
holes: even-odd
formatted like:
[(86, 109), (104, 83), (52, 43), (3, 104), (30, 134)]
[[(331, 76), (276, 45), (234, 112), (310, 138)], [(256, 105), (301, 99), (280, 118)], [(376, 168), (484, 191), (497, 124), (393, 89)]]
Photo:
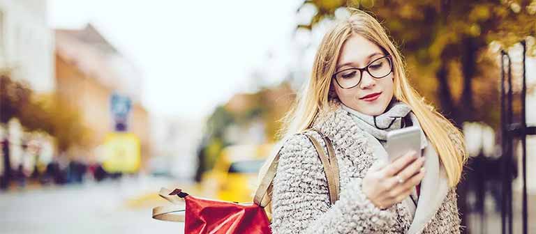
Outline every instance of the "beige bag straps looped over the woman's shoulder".
[[(337, 159), (335, 157), (335, 151), (333, 149), (332, 142), (329, 141), (327, 137), (325, 137), (324, 134), (322, 134), (320, 131), (315, 130), (313, 128), (309, 129), (313, 130), (315, 132), (318, 132), (320, 136), (322, 136), (322, 139), (325, 141), (327, 146), (327, 153), (329, 157), (327, 157), (324, 153), (324, 149), (322, 149), (322, 146), (320, 146), (320, 143), (316, 141), (313, 137), (309, 136), (308, 134), (305, 134), (306, 137), (313, 143), (313, 146), (315, 147), (316, 152), (318, 153), (318, 157), (320, 157), (320, 162), (322, 162), (322, 165), (324, 166), (324, 173), (327, 179), (327, 185), (328, 185), (328, 192), (329, 192), (329, 201), (334, 204), (335, 201), (338, 200), (338, 192), (339, 192), (339, 176), (338, 176), (338, 164)], [(274, 181), (274, 177), (276, 176), (277, 171), (277, 164), (279, 161), (279, 155), (281, 153), (281, 147), (276, 154), (276, 157), (272, 159), (270, 162), (270, 166), (267, 170), (267, 173), (260, 181), (260, 185), (257, 188), (257, 191), (255, 192), (255, 196), (253, 197), (253, 203), (260, 205), (260, 207), (266, 207), (270, 203), (271, 198), (269, 196), (266, 196), (269, 187), (272, 186), (272, 182)]]

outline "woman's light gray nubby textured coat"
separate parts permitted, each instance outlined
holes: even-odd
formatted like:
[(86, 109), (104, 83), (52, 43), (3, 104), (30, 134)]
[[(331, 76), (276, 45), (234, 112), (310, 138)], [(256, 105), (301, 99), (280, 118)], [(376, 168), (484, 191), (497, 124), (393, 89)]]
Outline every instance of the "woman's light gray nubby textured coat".
[[(273, 233), (460, 233), (456, 191), (448, 187), (445, 170), (431, 144), (423, 153), (426, 174), (416, 210), (407, 202), (380, 210), (366, 198), (361, 182), (376, 160), (387, 158), (387, 152), (378, 140), (357, 127), (340, 104), (332, 102), (331, 106), (315, 119), (313, 127), (334, 145), (340, 170), (339, 200), (330, 205), (320, 159), (312, 143), (303, 134), (296, 134), (283, 144), (274, 178)], [(310, 134), (325, 147), (318, 133)]]

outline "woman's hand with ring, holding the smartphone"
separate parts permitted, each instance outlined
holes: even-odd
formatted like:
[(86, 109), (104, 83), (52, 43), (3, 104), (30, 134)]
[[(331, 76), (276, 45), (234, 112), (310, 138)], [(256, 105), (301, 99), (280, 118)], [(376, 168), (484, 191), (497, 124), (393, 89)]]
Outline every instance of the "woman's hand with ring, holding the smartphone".
[(424, 178), (423, 165), (424, 157), (417, 159), (414, 151), (390, 164), (374, 164), (363, 178), (363, 192), (378, 208), (388, 208), (410, 196)]

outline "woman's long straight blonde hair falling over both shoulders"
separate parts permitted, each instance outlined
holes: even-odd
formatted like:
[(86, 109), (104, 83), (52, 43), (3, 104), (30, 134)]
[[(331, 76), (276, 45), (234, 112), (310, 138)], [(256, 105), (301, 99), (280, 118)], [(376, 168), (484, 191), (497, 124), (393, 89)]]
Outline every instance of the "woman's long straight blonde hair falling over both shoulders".
[[(374, 42), (392, 56), (394, 96), (412, 108), (431, 145), (437, 150), (440, 162), (445, 166), (449, 186), (456, 186), (461, 180), (463, 164), (467, 160), (463, 134), (431, 105), (426, 104), (424, 98), (410, 86), (405, 74), (403, 58), (380, 22), (362, 10), (354, 8), (348, 8), (348, 10), (351, 13), (350, 17), (335, 24), (322, 38), (313, 62), (311, 79), (308, 79), (304, 89), (298, 93), (292, 109), (283, 118), (283, 128), (278, 136), (286, 139), (292, 134), (306, 130), (311, 127), (315, 116), (320, 111), (329, 109), (329, 100), (336, 98), (329, 93), (332, 93), (330, 91), (334, 85), (332, 74), (336, 70), (341, 47), (353, 33), (356, 33)], [(450, 137), (454, 137), (456, 142)], [(260, 171), (260, 178), (266, 173), (271, 160), (267, 161)]]

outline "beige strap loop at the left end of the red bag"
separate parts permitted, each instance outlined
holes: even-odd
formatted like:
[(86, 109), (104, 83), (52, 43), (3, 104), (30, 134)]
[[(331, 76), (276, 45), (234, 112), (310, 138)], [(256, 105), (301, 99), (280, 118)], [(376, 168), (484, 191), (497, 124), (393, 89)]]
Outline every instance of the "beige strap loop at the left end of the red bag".
[[(172, 191), (166, 188), (161, 188), (158, 195), (165, 200), (170, 201), (173, 205), (157, 206), (153, 208), (153, 219), (163, 221), (177, 221), (184, 222), (184, 211), (186, 211), (186, 205), (184, 201), (177, 195), (170, 195)], [(174, 214), (177, 212), (183, 212), (182, 214)]]

